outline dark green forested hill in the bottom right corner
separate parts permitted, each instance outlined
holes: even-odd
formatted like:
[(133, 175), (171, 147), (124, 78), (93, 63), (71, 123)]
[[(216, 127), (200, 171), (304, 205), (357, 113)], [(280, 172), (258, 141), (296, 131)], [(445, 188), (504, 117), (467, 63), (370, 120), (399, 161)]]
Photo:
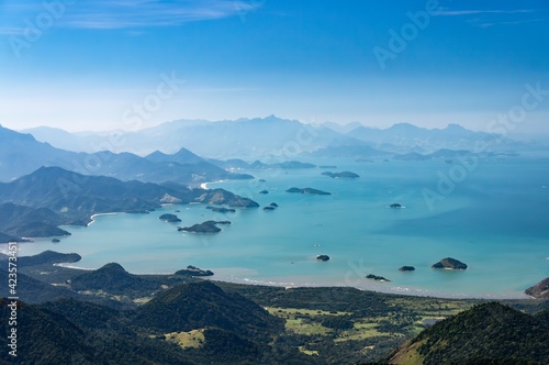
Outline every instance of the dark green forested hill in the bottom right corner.
[(479, 305), (423, 331), (390, 364), (548, 364), (547, 321), (497, 302)]

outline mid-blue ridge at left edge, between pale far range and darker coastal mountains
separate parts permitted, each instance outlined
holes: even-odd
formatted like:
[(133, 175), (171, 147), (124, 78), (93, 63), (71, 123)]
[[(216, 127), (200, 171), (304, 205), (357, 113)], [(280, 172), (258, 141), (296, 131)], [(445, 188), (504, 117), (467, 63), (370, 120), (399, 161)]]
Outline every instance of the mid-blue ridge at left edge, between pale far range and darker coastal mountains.
[(104, 175), (122, 180), (176, 181), (200, 184), (220, 179), (247, 179), (249, 175), (228, 173), (219, 166), (180, 150), (177, 162), (153, 154), (144, 158), (132, 153), (102, 151), (92, 154), (76, 153), (37, 142), (0, 126), (0, 180), (10, 181), (42, 166), (57, 166), (85, 175)]

